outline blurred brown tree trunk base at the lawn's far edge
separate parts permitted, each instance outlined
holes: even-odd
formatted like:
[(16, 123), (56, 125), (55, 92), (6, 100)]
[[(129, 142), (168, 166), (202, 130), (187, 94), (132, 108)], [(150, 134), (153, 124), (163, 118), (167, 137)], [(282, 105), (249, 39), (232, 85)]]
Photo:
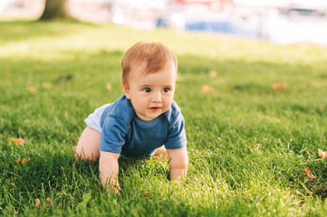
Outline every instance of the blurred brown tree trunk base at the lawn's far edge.
[(45, 0), (45, 6), (40, 20), (68, 19), (71, 14), (68, 9), (69, 0)]

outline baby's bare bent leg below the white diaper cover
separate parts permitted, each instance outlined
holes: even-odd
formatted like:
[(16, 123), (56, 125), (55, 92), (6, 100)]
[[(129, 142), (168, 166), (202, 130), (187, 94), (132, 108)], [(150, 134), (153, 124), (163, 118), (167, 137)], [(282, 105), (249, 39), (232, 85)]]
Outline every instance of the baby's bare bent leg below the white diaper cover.
[(84, 128), (78, 145), (76, 147), (76, 160), (91, 160), (99, 159), (100, 151), (100, 132), (91, 127)]

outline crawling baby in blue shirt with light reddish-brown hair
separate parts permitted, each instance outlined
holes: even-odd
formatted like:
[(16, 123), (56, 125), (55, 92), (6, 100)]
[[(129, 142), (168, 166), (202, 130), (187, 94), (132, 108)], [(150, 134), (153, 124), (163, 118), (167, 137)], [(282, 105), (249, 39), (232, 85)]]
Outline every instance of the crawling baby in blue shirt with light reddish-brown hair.
[(85, 119), (77, 160), (99, 159), (101, 183), (119, 189), (118, 159), (168, 159), (170, 180), (187, 175), (184, 118), (173, 100), (178, 61), (159, 42), (138, 42), (122, 61), (124, 95)]

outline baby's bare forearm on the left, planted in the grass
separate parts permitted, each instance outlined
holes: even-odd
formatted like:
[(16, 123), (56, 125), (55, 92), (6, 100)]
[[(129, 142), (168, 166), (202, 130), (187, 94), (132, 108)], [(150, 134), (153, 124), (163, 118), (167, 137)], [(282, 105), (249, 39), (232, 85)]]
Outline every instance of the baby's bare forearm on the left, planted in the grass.
[(120, 188), (118, 183), (119, 157), (120, 154), (100, 151), (99, 171), (101, 184), (104, 186), (109, 185), (111, 189), (117, 187), (116, 192)]

